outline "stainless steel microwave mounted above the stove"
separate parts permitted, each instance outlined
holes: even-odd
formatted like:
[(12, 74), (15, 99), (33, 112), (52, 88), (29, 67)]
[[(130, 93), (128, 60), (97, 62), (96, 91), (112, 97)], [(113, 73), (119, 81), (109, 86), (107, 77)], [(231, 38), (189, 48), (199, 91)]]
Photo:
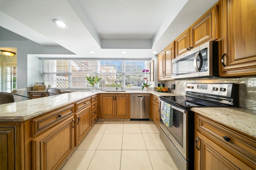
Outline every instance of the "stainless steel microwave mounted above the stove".
[(218, 41), (208, 41), (172, 60), (172, 78), (218, 77)]

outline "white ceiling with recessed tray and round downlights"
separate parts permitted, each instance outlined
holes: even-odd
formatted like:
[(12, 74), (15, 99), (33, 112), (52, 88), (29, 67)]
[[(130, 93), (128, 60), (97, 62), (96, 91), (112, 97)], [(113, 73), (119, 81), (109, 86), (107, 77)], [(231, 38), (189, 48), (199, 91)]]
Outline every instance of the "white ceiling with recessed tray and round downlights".
[[(0, 26), (41, 45), (60, 45), (74, 53), (65, 57), (150, 59), (153, 51), (162, 51), (216, 2), (0, 0)], [(65, 21), (68, 28), (56, 26), (53, 19)]]

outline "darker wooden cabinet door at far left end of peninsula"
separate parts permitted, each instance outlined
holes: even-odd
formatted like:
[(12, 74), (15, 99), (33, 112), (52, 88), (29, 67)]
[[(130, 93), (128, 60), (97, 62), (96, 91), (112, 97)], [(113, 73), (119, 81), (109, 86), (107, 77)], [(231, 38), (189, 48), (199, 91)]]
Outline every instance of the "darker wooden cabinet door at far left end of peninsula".
[(20, 169), (19, 123), (0, 123), (0, 169)]

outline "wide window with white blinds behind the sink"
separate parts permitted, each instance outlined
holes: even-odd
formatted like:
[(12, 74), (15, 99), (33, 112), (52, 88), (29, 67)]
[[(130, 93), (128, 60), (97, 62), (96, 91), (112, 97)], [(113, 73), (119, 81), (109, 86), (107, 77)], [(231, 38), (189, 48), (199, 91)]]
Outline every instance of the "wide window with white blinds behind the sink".
[[(122, 60), (44, 60), (41, 59), (42, 81), (57, 88), (86, 88), (86, 76), (98, 75), (107, 88), (138, 88), (146, 76), (150, 61)], [(100, 87), (100, 85), (99, 85)]]

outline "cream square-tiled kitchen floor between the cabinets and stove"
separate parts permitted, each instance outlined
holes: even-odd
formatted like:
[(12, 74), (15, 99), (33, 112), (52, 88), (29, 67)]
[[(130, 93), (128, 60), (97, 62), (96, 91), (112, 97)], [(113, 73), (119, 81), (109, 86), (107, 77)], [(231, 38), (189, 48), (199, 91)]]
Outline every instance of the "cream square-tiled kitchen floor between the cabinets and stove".
[(98, 121), (62, 170), (178, 170), (152, 121)]

